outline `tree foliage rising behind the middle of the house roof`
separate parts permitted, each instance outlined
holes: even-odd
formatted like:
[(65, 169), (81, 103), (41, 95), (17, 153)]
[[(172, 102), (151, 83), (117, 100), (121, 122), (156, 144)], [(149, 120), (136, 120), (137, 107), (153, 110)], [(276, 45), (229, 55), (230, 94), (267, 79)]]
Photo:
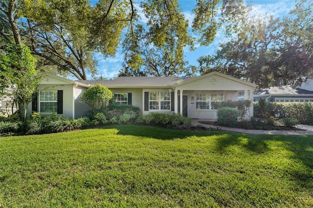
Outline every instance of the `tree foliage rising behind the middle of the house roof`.
[[(124, 41), (125, 64), (120, 74), (177, 76), (193, 74), (184, 61), (184, 48), (193, 48), (188, 21), (178, 0), (141, 1), (148, 19), (146, 26), (137, 24)], [(130, 72), (130, 73), (129, 73)]]

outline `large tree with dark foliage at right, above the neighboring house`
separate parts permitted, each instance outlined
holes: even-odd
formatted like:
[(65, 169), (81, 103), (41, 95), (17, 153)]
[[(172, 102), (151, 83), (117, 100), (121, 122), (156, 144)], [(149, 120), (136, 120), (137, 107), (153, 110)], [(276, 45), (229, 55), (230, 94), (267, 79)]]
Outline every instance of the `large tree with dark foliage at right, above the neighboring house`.
[(201, 73), (220, 71), (261, 88), (296, 84), (310, 76), (313, 20), (307, 15), (312, 4), (306, 9), (303, 3), (289, 18), (244, 18), (240, 27), (232, 28), (236, 35), (230, 41), (222, 42), (214, 55), (198, 59)]

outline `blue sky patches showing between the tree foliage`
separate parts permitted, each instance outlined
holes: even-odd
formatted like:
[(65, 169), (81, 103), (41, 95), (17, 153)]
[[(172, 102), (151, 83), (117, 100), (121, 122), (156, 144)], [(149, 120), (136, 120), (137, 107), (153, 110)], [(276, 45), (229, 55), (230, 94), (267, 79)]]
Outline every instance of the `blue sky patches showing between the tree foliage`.
[[(274, 18), (283, 17), (288, 14), (288, 12), (294, 8), (294, 0), (246, 0), (246, 3), (252, 5), (254, 14), (261, 15), (273, 15)], [(189, 26), (193, 21), (194, 15), (192, 9), (195, 8), (195, 0), (179, 0), (179, 5), (183, 11), (185, 18), (189, 21)], [(137, 7), (139, 14), (141, 14), (141, 22), (145, 23), (147, 19), (143, 16), (143, 13), (140, 10), (140, 7)], [(191, 29), (191, 28), (190, 28)], [(187, 48), (185, 50), (185, 60), (189, 62), (190, 65), (198, 66), (199, 63), (197, 59), (204, 55), (214, 54), (214, 51), (219, 46), (220, 42), (225, 41), (226, 38), (223, 36), (222, 32), (218, 32), (214, 42), (209, 46), (200, 46), (196, 43), (196, 50), (189, 51)], [(103, 78), (113, 79), (119, 73), (119, 70), (122, 68), (122, 63), (124, 61), (124, 55), (121, 48), (118, 48), (114, 57), (108, 57), (103, 59), (101, 54), (96, 55), (98, 61), (98, 73), (99, 77), (102, 75)], [(91, 77), (88, 77), (91, 79)]]

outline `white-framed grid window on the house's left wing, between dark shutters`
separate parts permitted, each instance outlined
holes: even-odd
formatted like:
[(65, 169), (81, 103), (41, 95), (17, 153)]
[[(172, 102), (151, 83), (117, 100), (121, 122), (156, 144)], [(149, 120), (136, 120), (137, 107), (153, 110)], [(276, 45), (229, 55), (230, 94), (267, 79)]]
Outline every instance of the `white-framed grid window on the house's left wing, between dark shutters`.
[(58, 91), (42, 90), (39, 93), (40, 112), (57, 113), (58, 112)]

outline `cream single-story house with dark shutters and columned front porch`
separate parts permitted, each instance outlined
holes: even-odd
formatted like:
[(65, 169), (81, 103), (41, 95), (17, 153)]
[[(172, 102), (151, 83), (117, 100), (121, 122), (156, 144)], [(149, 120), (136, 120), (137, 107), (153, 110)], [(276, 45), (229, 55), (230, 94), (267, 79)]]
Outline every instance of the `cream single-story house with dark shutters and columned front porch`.
[[(211, 102), (238, 100), (244, 95), (253, 99), (256, 86), (218, 72), (199, 77), (118, 77), (103, 81), (71, 81), (47, 74), (38, 87), (38, 97), (29, 104), (30, 111), (56, 112), (69, 118), (88, 115), (89, 106), (80, 95), (88, 87), (102, 84), (114, 94), (116, 103), (138, 106), (143, 115), (149, 112), (180, 113), (195, 119), (217, 119)], [(249, 108), (253, 116), (253, 106)]]

